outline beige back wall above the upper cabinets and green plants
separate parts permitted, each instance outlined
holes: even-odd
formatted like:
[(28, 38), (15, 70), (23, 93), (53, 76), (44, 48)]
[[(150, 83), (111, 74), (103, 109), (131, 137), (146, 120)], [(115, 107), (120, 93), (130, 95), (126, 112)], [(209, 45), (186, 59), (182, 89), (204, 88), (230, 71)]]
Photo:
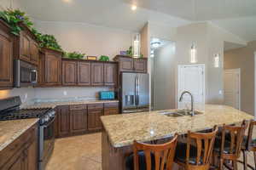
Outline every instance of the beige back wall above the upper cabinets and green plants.
[(55, 35), (67, 51), (79, 51), (90, 56), (108, 55), (113, 58), (132, 44), (134, 32), (73, 22), (35, 21), (39, 31)]

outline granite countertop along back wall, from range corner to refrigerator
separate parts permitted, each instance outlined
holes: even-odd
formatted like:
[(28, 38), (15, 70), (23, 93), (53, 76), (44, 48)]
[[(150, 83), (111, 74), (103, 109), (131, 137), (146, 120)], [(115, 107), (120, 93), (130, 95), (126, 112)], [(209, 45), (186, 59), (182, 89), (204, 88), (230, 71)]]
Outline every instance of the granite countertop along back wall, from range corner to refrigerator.
[(102, 103), (116, 103), (119, 100), (70, 100), (70, 101), (53, 101), (53, 102), (38, 102), (32, 105), (23, 105), (21, 109), (42, 109), (55, 108), (57, 105), (88, 105), (88, 104), (102, 104)]

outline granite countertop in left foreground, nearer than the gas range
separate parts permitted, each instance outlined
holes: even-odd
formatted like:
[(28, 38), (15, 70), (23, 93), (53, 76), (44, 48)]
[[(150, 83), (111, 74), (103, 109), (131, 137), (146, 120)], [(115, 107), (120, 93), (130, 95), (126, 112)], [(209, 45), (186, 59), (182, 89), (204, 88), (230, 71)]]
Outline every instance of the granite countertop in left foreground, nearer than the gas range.
[(0, 151), (38, 122), (38, 118), (0, 121)]

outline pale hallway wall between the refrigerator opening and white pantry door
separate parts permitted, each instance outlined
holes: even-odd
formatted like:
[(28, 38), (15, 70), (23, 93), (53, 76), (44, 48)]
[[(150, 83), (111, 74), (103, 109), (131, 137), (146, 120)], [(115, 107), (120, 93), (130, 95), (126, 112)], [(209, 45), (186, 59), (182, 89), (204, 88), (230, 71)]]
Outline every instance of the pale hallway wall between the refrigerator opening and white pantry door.
[(154, 110), (174, 109), (175, 43), (168, 42), (154, 50)]

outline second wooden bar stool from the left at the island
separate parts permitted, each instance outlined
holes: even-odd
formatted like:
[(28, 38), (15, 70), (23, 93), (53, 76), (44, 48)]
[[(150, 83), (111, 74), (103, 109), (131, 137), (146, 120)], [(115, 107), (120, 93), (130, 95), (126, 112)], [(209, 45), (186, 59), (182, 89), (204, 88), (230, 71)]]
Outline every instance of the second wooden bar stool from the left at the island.
[(217, 132), (216, 126), (210, 133), (189, 132), (187, 144), (177, 144), (175, 162), (186, 170), (209, 169)]

